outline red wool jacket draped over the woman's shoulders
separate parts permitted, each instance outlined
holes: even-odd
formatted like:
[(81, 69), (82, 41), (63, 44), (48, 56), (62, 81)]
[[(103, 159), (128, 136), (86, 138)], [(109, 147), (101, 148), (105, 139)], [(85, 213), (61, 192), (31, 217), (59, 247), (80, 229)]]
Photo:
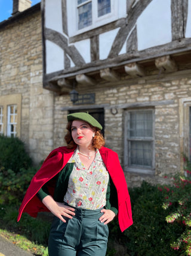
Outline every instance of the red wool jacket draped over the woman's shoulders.
[[(58, 147), (48, 155), (47, 159), (45, 159), (42, 164), (42, 167), (37, 171), (30, 182), (29, 188), (21, 203), (17, 221), (20, 220), (23, 212), (27, 212), (30, 216), (35, 218), (38, 215), (38, 212), (49, 212), (47, 207), (45, 207), (41, 200), (36, 196), (36, 193), (48, 182), (47, 185), (50, 194), (54, 194), (55, 184), (51, 182), (51, 179), (67, 164), (74, 150), (75, 149), (67, 149), (67, 147)], [(118, 193), (118, 221), (119, 227), (123, 232), (133, 224), (130, 195), (128, 193), (124, 171), (121, 168), (116, 152), (107, 149), (106, 147), (101, 147), (99, 152)]]

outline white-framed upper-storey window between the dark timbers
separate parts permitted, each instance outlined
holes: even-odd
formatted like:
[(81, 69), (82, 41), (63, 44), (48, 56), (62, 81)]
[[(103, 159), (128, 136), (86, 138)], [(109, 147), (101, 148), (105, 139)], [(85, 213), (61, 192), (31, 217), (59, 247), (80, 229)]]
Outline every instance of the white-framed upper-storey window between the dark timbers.
[(81, 34), (127, 16), (126, 0), (67, 0), (69, 36)]

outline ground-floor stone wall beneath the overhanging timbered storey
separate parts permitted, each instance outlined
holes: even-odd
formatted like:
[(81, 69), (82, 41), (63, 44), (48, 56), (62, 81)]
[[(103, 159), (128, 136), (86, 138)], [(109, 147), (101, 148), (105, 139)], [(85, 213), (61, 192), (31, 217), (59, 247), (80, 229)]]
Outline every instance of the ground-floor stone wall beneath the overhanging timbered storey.
[[(115, 84), (100, 83), (94, 87), (96, 105), (108, 104), (104, 110), (106, 146), (118, 152), (122, 165), (124, 164), (125, 111), (136, 109), (135, 104), (137, 108), (149, 106), (155, 110), (155, 175), (125, 173), (129, 180), (128, 185), (140, 185), (142, 180), (152, 183), (167, 182), (162, 178), (165, 174), (182, 171), (180, 109), (183, 106), (180, 106), (180, 99), (191, 97), (190, 85), (190, 78), (178, 77), (162, 81), (142, 80), (141, 84), (137, 82), (134, 85), (128, 85), (124, 79)], [(79, 86), (78, 92), (83, 94), (93, 91), (86, 86)], [(64, 144), (67, 111), (61, 111), (61, 108), (66, 106), (72, 107), (69, 96), (55, 98), (54, 125), (57, 131), (54, 134), (55, 146)], [(116, 115), (112, 114), (111, 106), (117, 108)], [(78, 106), (76, 110), (78, 111)]]

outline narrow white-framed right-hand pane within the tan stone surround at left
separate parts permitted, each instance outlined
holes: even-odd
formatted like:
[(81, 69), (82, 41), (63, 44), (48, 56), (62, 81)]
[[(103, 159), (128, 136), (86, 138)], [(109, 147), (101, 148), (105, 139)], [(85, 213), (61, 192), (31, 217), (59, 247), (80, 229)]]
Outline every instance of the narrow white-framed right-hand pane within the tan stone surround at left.
[(7, 135), (16, 137), (17, 135), (17, 105), (10, 105), (7, 109)]

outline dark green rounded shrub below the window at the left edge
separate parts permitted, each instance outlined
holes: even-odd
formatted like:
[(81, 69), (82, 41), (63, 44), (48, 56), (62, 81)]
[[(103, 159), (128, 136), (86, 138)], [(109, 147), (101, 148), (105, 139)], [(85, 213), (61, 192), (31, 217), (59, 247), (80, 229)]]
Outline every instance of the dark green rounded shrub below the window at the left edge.
[(32, 160), (24, 149), (23, 141), (0, 135), (0, 167), (17, 173), (20, 168), (29, 168), (31, 165)]

